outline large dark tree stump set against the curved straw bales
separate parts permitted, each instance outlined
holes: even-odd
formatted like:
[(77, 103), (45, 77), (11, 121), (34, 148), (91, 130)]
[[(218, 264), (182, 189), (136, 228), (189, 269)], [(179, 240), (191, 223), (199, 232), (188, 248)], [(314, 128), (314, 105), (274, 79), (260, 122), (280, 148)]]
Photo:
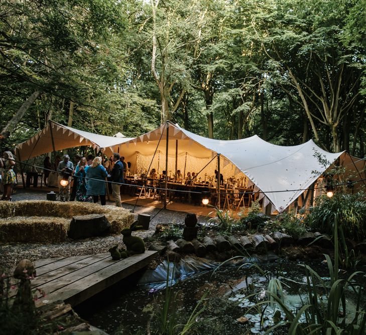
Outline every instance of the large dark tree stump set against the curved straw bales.
[(101, 236), (109, 231), (110, 224), (104, 214), (73, 216), (68, 236), (70, 239), (86, 239)]

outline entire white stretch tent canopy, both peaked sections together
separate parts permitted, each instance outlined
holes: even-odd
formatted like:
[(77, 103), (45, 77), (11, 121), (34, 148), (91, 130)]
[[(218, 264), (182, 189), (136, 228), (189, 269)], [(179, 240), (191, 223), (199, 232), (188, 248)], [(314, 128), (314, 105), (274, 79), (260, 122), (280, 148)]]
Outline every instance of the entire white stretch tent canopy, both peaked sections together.
[(226, 177), (245, 174), (250, 184), (254, 183), (277, 210), (287, 208), (338, 157), (346, 155), (345, 152), (326, 152), (312, 140), (290, 147), (268, 143), (257, 135), (233, 141), (213, 140), (171, 122), (136, 138), (97, 135), (50, 122), (34, 137), (19, 144), (17, 154), (21, 160), (28, 160), (51, 152), (53, 137), (55, 150), (89, 146), (101, 149), (107, 156), (119, 152), (126, 161), (132, 162), (135, 171), (142, 163), (145, 169), (151, 165), (151, 168), (164, 170), (167, 136), (170, 171), (175, 172), (177, 157), (178, 169), (184, 168), (184, 172), (187, 168), (197, 173), (208, 164), (202, 174), (205, 179), (206, 176), (212, 178), (216, 169), (214, 157), (220, 154), (220, 171), (226, 171)]

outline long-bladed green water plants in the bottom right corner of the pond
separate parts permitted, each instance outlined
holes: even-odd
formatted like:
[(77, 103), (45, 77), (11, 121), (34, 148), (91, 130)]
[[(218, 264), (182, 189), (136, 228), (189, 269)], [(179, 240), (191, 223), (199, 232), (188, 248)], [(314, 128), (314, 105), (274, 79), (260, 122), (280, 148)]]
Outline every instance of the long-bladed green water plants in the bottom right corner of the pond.
[[(334, 221), (334, 239), (338, 239), (338, 219), (335, 216)], [(361, 309), (360, 296), (361, 285), (355, 285), (353, 279), (356, 275), (362, 274), (360, 271), (353, 272), (346, 279), (339, 279), (339, 249), (338, 244), (334, 244), (334, 264), (328, 255), (325, 255), (328, 264), (329, 278), (331, 287), (329, 288), (323, 281), (322, 277), (308, 265), (301, 265), (306, 273), (306, 301), (303, 300), (301, 308), (295, 312), (287, 306), (283, 300), (278, 297), (274, 290), (268, 290), (270, 301), (259, 302), (260, 304), (268, 304), (275, 301), (286, 315), (286, 321), (281, 320), (266, 333), (288, 324), (289, 335), (364, 335), (366, 328), (366, 311)], [(319, 290), (320, 287), (320, 290)], [(356, 310), (353, 318), (346, 322), (347, 299), (346, 290), (351, 287), (357, 295)], [(358, 287), (358, 288), (357, 288)], [(300, 320), (303, 319), (303, 322)]]

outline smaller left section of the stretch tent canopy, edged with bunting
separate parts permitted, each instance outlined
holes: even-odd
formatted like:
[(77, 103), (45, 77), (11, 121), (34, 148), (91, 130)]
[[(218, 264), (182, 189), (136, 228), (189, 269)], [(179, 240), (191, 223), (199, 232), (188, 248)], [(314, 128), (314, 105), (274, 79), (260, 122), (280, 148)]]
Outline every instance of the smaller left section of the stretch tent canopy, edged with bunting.
[(117, 145), (129, 140), (131, 138), (88, 133), (51, 121), (43, 130), (28, 141), (18, 144), (16, 151), (17, 157), (25, 161), (54, 150), (58, 151), (79, 146), (89, 146), (93, 149), (101, 149), (109, 157), (114, 150), (118, 150)]

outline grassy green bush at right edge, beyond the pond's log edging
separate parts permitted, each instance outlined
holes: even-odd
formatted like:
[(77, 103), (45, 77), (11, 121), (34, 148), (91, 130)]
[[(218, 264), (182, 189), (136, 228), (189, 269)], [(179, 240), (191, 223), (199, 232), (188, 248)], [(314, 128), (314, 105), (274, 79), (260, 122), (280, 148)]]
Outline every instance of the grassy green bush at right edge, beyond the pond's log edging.
[(366, 203), (362, 194), (340, 194), (318, 198), (310, 208), (305, 223), (313, 230), (332, 235), (335, 216), (342, 228), (344, 238), (362, 241), (366, 238)]

